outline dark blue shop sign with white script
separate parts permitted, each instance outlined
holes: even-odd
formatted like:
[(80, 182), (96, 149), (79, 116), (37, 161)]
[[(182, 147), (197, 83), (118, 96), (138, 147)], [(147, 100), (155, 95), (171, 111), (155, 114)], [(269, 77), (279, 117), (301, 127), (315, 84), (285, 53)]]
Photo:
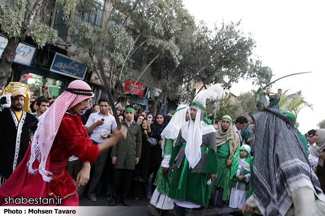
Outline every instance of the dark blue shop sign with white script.
[(87, 67), (80, 61), (56, 53), (50, 71), (83, 80), (86, 75)]

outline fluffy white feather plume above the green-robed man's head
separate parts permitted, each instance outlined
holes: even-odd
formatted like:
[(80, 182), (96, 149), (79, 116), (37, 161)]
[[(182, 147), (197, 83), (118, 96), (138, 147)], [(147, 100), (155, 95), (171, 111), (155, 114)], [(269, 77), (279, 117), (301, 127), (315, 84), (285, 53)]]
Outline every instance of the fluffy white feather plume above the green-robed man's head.
[(196, 94), (194, 101), (200, 103), (205, 107), (207, 99), (219, 100), (224, 96), (224, 88), (221, 86), (221, 83), (212, 85), (206, 90), (200, 91)]

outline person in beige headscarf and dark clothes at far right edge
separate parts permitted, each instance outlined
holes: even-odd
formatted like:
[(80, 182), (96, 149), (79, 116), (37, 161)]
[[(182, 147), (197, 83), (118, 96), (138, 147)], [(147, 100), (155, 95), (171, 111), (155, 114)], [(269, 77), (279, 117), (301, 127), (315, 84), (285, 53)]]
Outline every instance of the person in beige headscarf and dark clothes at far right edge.
[(317, 156), (319, 158), (318, 164), (317, 164), (317, 175), (321, 183), (321, 188), (323, 192), (325, 193), (325, 129), (317, 129), (315, 134), (315, 142), (316, 145), (311, 147), (310, 153)]

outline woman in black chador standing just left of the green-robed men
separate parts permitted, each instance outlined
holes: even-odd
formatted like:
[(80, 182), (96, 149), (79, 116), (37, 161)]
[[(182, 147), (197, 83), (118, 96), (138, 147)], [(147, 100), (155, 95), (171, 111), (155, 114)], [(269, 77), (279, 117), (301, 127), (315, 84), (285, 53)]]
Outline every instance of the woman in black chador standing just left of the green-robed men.
[(148, 185), (147, 185), (147, 198), (151, 199), (152, 196), (152, 180), (156, 178), (157, 171), (160, 167), (160, 164), (162, 162), (162, 131), (166, 127), (166, 120), (165, 115), (162, 112), (158, 112), (156, 115), (155, 120), (150, 125), (153, 138), (157, 140), (157, 144), (155, 146), (152, 146), (151, 148), (151, 160), (150, 160), (150, 167), (149, 167), (149, 179), (148, 179)]

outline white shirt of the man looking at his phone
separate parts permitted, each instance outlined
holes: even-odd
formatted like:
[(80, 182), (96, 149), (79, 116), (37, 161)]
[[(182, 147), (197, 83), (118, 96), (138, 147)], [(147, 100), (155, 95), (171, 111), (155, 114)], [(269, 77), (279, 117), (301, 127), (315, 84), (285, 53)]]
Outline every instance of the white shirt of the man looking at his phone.
[(107, 112), (107, 115), (103, 116), (100, 113), (100, 111), (90, 114), (88, 121), (86, 123), (86, 126), (90, 127), (95, 122), (97, 122), (98, 120), (101, 120), (101, 119), (104, 119), (104, 124), (97, 126), (93, 130), (92, 134), (89, 136), (89, 138), (91, 140), (93, 140), (94, 142), (97, 142), (97, 143), (102, 143), (102, 142), (106, 141), (108, 139), (108, 137), (103, 138), (100, 135), (103, 135), (106, 133), (111, 134), (117, 126), (113, 115), (111, 115)]

